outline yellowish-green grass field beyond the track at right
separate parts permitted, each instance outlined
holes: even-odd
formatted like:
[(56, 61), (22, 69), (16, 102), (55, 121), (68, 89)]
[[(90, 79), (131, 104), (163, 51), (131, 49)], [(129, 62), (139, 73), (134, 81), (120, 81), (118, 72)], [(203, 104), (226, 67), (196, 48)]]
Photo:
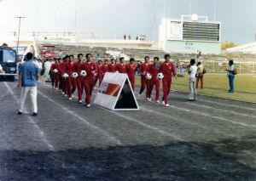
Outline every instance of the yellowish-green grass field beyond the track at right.
[[(140, 84), (140, 77), (138, 76), (136, 83)], [(236, 75), (236, 92), (228, 93), (229, 88), (229, 79), (226, 74), (206, 74), (204, 76), (204, 89), (197, 89), (197, 93), (256, 103), (256, 75)], [(177, 77), (177, 80), (173, 78), (172, 89), (189, 92), (189, 77)]]

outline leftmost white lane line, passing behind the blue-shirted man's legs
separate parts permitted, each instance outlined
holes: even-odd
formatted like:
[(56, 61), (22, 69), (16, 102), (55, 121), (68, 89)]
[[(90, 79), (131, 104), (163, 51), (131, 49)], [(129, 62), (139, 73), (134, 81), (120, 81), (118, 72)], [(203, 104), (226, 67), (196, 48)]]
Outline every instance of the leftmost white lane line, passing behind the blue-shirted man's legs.
[[(14, 95), (14, 98), (15, 98), (16, 102), (19, 104), (19, 99), (17, 99), (17, 97), (16, 97), (15, 93), (13, 92), (13, 90), (11, 88), (9, 88), (8, 83), (4, 82), (4, 84), (9, 89), (10, 93), (12, 95)], [(26, 108), (24, 108), (24, 110), (27, 111)], [(29, 120), (29, 122), (32, 123), (33, 127), (35, 127), (38, 130), (40, 139), (42, 139), (44, 141), (44, 143), (48, 146), (49, 150), (54, 151), (55, 150), (54, 146), (49, 143), (48, 139), (46, 139), (46, 136), (44, 135), (44, 132), (40, 129), (40, 127), (38, 127), (38, 124), (36, 122), (34, 122), (34, 120), (32, 119), (31, 116), (28, 116), (28, 120)]]

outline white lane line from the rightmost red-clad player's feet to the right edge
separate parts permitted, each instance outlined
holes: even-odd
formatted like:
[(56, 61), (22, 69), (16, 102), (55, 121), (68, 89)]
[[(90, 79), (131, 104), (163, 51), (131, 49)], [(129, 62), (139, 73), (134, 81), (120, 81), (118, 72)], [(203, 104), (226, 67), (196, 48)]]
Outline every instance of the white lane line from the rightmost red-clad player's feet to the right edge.
[[(140, 99), (140, 100), (147, 101), (147, 100), (144, 100), (144, 99)], [(203, 113), (203, 112), (196, 111), (196, 110), (188, 110), (188, 109), (173, 106), (173, 105), (170, 105), (170, 107), (173, 108), (173, 109), (176, 109), (176, 110), (187, 111), (187, 112), (190, 112), (190, 113), (195, 114), (195, 115), (208, 116), (208, 117), (212, 117), (212, 118), (215, 118), (215, 119), (218, 119), (218, 120), (222, 120), (224, 122), (231, 122), (233, 124), (238, 124), (238, 125), (241, 125), (241, 126), (244, 126), (244, 127), (256, 128), (256, 126), (254, 126), (254, 125), (249, 125), (249, 124), (245, 124), (245, 123), (242, 123), (242, 122), (235, 122), (235, 121), (232, 121), (232, 120), (229, 120), (229, 119), (226, 119), (226, 118), (223, 118), (223, 117), (219, 117), (219, 116), (211, 116), (211, 115), (208, 115), (207, 113)]]

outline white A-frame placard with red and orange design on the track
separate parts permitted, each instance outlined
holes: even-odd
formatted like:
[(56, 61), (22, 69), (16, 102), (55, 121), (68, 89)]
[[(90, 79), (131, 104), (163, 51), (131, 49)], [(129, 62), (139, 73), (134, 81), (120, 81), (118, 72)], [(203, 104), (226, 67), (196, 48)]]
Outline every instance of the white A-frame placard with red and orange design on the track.
[(109, 110), (139, 110), (127, 74), (107, 72), (94, 104)]

